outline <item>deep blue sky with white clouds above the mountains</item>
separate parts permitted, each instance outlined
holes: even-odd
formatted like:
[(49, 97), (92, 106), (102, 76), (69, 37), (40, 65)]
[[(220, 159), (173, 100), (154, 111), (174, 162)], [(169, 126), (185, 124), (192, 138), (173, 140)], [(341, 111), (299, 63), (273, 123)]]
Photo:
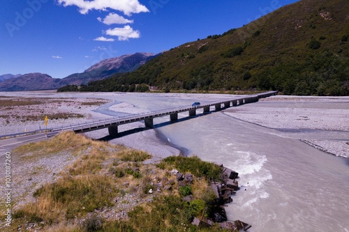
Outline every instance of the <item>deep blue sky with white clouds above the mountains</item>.
[(297, 0), (1, 0), (0, 75), (63, 78), (239, 28)]

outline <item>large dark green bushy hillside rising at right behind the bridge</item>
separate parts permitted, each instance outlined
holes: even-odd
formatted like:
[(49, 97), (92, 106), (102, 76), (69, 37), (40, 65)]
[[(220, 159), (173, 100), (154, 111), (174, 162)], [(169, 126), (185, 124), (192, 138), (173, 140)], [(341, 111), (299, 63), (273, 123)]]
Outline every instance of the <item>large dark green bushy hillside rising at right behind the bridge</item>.
[(242, 28), (170, 49), (135, 72), (90, 82), (80, 91), (151, 87), (349, 95), (348, 37), (348, 0), (298, 1)]

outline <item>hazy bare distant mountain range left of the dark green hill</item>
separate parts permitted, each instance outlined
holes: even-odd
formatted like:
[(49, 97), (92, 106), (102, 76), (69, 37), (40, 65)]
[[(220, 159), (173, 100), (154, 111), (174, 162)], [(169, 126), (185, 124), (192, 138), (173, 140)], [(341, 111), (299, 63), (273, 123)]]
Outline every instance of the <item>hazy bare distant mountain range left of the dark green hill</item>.
[(100, 61), (82, 73), (74, 73), (62, 79), (52, 78), (50, 75), (34, 72), (25, 75), (1, 75), (0, 91), (36, 91), (56, 89), (75, 84), (82, 85), (91, 81), (105, 79), (119, 72), (133, 72), (156, 55), (138, 52), (113, 57)]

